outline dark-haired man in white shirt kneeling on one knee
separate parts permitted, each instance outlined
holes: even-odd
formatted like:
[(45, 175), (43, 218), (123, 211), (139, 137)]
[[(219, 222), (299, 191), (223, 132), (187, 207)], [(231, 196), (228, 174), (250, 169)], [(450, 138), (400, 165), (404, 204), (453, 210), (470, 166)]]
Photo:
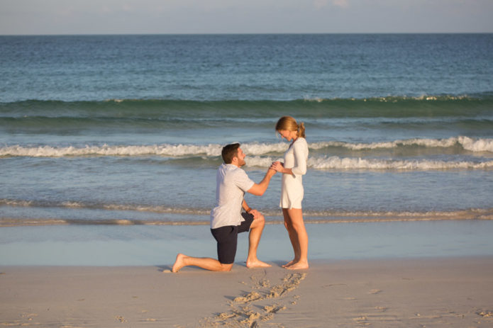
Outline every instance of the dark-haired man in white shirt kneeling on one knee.
[[(262, 196), (276, 174), (268, 169), (260, 183), (254, 183), (241, 169), (245, 165), (245, 154), (240, 144), (226, 145), (221, 152), (224, 163), (217, 170), (216, 207), (211, 210), (211, 232), (217, 242), (218, 260), (178, 254), (172, 272), (184, 266), (199, 266), (211, 271), (231, 271), (235, 261), (238, 233), (250, 230), (248, 268), (265, 267), (269, 264), (257, 259), (257, 247), (262, 236), (265, 218), (248, 206), (243, 197), (245, 192)], [(245, 213), (241, 213), (241, 209)]]

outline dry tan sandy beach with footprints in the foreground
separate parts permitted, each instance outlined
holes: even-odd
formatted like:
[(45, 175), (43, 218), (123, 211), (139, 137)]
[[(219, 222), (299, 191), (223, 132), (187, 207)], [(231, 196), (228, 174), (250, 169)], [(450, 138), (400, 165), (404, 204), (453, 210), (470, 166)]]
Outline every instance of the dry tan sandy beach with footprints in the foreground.
[(0, 327), (493, 327), (493, 258), (1, 266)]

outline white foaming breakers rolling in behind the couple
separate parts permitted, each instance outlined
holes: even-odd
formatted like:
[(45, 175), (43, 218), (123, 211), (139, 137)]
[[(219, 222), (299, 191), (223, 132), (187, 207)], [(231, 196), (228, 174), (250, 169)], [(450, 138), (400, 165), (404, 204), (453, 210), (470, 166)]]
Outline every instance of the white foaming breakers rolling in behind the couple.
[[(200, 163), (216, 166), (221, 158), (221, 147), (209, 145), (84, 145), (54, 147), (51, 145), (0, 147), (0, 157), (162, 157), (179, 160), (184, 164)], [(267, 167), (282, 159), (287, 143), (245, 143), (242, 148), (248, 154), (247, 167)], [(471, 137), (450, 137), (448, 139), (409, 139), (389, 142), (350, 143), (313, 142), (308, 161), (311, 169), (336, 170), (446, 170), (446, 169), (492, 169), (493, 139), (474, 139)], [(438, 159), (413, 159), (416, 148), (434, 149)], [(341, 155), (341, 149), (343, 154)], [(399, 157), (383, 158), (375, 151), (399, 149)], [(441, 155), (445, 152), (447, 157)], [(484, 154), (481, 156), (462, 156)], [(334, 153), (337, 154), (334, 155)], [(406, 155), (407, 154), (407, 155)], [(450, 156), (461, 155), (461, 156)]]

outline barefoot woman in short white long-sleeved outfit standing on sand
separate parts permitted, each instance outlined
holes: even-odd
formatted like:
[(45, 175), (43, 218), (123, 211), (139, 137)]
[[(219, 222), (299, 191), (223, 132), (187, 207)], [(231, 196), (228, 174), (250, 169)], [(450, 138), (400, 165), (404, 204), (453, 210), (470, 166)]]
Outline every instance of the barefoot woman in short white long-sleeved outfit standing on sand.
[(281, 201), (284, 226), (293, 246), (294, 259), (284, 268), (291, 270), (308, 268), (308, 234), (306, 234), (301, 212), (304, 189), (302, 176), (306, 174), (308, 145), (305, 140), (305, 127), (291, 116), (283, 116), (277, 121), (275, 130), (287, 141), (292, 141), (284, 153), (282, 162), (272, 163), (271, 168), (282, 173)]

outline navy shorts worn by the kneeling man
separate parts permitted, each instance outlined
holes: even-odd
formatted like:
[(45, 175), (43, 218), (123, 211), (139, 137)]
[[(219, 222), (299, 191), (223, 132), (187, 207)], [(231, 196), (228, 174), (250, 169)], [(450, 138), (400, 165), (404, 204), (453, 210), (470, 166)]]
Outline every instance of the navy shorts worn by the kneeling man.
[(245, 219), (245, 221), (241, 222), (241, 225), (226, 225), (211, 229), (212, 235), (217, 242), (217, 256), (221, 264), (233, 264), (238, 244), (238, 234), (250, 230), (253, 215), (241, 213), (241, 216)]

